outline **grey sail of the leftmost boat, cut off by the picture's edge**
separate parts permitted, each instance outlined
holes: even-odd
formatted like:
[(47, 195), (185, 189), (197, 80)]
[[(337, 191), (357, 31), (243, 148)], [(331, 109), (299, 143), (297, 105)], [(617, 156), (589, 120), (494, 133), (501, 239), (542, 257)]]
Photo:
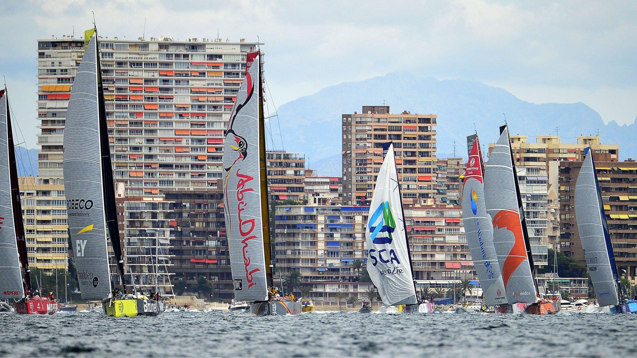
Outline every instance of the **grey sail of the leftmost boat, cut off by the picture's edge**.
[[(15, 208), (12, 193), (17, 188), (17, 173), (10, 173), (13, 153), (9, 100), (6, 90), (0, 90), (0, 299), (24, 297), (20, 260), (18, 259), (17, 222), (22, 224), (22, 212)], [(15, 157), (13, 157), (15, 163)], [(15, 171), (15, 168), (14, 168)], [(15, 183), (13, 182), (15, 180)], [(20, 201), (18, 199), (17, 203)], [(24, 229), (22, 230), (24, 240)], [(25, 268), (26, 269), (26, 268)], [(26, 274), (28, 276), (28, 273)]]

